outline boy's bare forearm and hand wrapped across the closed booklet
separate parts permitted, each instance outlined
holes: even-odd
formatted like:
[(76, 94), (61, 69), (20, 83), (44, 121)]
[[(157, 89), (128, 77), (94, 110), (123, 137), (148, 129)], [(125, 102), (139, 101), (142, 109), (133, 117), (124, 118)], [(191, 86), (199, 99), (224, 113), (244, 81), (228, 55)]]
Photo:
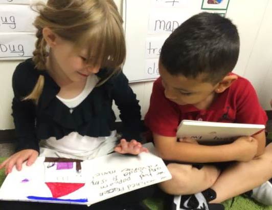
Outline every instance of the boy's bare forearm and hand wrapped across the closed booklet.
[(225, 162), (248, 161), (256, 154), (257, 141), (251, 137), (241, 137), (224, 145), (208, 146), (176, 141), (176, 137), (153, 133), (156, 149), (165, 160), (182, 162)]

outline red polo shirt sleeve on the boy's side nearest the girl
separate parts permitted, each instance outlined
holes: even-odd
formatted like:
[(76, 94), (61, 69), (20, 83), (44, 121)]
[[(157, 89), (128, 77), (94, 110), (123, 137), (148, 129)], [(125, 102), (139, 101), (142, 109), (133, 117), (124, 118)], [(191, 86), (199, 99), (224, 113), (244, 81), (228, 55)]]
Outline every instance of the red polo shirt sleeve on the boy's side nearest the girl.
[(165, 97), (161, 78), (158, 78), (153, 84), (145, 124), (152, 133), (169, 137), (176, 136), (179, 124), (178, 107)]

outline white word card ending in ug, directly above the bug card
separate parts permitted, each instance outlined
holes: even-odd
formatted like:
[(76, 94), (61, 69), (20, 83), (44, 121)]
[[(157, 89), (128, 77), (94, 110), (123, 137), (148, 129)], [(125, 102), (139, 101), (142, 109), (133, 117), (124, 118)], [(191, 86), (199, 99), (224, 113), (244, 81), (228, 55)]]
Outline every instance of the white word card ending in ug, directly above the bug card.
[(0, 7), (0, 32), (35, 32), (32, 25), (37, 14), (29, 5), (8, 5)]

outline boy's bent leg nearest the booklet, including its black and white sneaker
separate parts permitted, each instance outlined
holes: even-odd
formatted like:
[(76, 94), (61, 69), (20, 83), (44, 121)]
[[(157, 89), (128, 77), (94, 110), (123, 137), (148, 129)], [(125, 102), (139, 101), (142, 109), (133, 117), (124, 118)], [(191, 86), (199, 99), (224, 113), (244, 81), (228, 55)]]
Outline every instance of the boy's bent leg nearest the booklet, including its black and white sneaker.
[(206, 189), (215, 183), (220, 174), (215, 166), (170, 163), (167, 167), (172, 179), (159, 185), (164, 192), (176, 196), (172, 197), (172, 201), (168, 200), (166, 209), (213, 209), (208, 202), (216, 197), (216, 193)]

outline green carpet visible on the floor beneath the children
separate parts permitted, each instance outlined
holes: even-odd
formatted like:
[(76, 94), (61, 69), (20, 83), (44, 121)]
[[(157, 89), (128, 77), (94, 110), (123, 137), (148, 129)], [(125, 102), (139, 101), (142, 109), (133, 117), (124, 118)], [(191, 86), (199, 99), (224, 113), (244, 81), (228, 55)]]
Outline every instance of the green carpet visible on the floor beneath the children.
[[(0, 162), (2, 162), (5, 158), (0, 158)], [(3, 183), (5, 179), (4, 169), (0, 170), (0, 185)], [(151, 210), (163, 210), (163, 202), (161, 199), (149, 198), (146, 199), (145, 204)], [(225, 210), (272, 210), (272, 206), (264, 206), (257, 202), (254, 202), (251, 199), (243, 198), (242, 196), (237, 196), (234, 199), (234, 202), (231, 206), (232, 199), (223, 202), (225, 206)]]

